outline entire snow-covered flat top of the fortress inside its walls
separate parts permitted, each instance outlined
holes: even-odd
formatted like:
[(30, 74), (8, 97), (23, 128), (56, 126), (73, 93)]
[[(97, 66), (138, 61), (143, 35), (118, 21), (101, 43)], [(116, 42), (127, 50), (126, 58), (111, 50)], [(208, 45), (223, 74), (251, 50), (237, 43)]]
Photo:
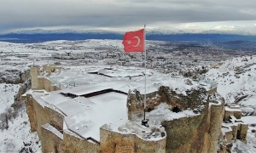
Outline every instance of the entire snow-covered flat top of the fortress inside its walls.
[[(111, 72), (112, 77), (98, 75), (95, 71)], [(107, 69), (108, 70), (108, 69)], [(133, 77), (127, 74), (132, 71)], [(119, 127), (125, 127), (126, 133), (133, 133), (128, 122), (126, 101), (129, 90), (137, 89), (141, 94), (145, 92), (143, 69), (130, 69), (119, 67), (119, 70), (104, 69), (104, 66), (70, 66), (70, 69), (57, 73), (53, 72), (49, 79), (56, 84), (62, 84), (62, 90), (54, 92), (33, 92), (33, 97), (42, 106), (52, 106), (56, 111), (65, 115), (64, 125), (66, 130), (77, 133), (84, 139), (95, 139), (100, 141), (100, 127), (111, 125), (112, 130), (119, 133), (124, 131)], [(93, 72), (93, 74), (91, 74)], [(122, 75), (120, 75), (122, 74)], [(137, 75), (141, 74), (141, 75)], [(189, 83), (188, 83), (189, 82)], [(70, 86), (72, 84), (74, 86)], [(69, 86), (67, 86), (69, 84)], [(186, 95), (191, 88), (201, 86), (188, 78), (170, 77), (156, 71), (147, 70), (147, 89), (150, 94), (158, 91), (160, 86), (168, 86), (177, 94)], [(163, 120), (173, 120), (186, 116), (197, 116), (193, 110), (170, 111), (162, 104), (146, 114), (149, 123), (160, 127)], [(134, 125), (137, 125), (137, 134), (142, 135), (141, 118), (133, 118)], [(65, 130), (65, 129), (64, 129)], [(156, 139), (158, 134), (154, 133), (151, 138)], [(148, 137), (149, 138), (149, 137)], [(160, 138), (158, 138), (160, 139)]]

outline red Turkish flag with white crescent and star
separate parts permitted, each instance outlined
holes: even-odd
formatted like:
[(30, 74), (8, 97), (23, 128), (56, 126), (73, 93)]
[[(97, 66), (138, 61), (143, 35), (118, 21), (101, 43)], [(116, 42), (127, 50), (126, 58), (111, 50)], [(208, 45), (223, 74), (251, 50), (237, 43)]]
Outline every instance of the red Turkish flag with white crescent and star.
[(144, 51), (144, 29), (138, 31), (125, 32), (123, 45), (125, 52), (143, 52)]

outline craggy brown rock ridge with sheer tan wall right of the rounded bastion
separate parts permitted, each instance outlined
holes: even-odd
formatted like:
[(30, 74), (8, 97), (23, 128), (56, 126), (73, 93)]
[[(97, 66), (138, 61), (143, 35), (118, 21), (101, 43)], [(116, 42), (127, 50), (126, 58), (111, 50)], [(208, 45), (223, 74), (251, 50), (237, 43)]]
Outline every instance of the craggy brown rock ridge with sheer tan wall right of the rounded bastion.
[[(193, 110), (198, 114), (161, 122), (166, 129), (166, 152), (216, 152), (224, 117), (224, 99), (209, 100), (206, 89), (200, 86), (190, 88), (186, 94), (177, 94), (176, 90), (161, 86), (158, 91), (147, 94), (146, 111), (166, 103), (170, 111)], [(129, 119), (132, 113), (143, 111), (143, 96), (138, 91), (128, 95)], [(210, 103), (216, 104), (209, 106)]]

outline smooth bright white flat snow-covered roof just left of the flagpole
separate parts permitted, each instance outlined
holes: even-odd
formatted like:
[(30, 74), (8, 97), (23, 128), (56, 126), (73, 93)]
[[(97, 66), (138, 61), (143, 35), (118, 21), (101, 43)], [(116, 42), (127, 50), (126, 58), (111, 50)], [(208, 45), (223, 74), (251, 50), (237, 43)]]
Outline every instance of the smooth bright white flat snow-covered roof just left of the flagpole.
[[(73, 116), (65, 117), (67, 127), (84, 138), (91, 137), (99, 141), (102, 125), (113, 123), (120, 126), (128, 121), (126, 99), (125, 94), (113, 92), (84, 99), (84, 106), (80, 108), (80, 111)], [(67, 107), (67, 110), (71, 108), (72, 106)]]

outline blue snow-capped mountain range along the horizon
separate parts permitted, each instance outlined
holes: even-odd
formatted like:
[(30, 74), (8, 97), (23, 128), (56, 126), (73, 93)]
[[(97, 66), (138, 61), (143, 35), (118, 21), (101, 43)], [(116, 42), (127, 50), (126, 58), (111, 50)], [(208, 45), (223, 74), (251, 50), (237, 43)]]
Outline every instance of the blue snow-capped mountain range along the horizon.
[[(238, 33), (238, 34), (237, 34)], [(240, 46), (250, 45), (256, 50), (256, 35), (243, 33), (240, 31), (232, 33), (231, 31), (169, 31), (169, 30), (147, 30), (146, 39), (166, 42), (183, 42), (183, 43), (214, 43), (221, 46)], [(34, 29), (26, 31), (13, 31), (0, 34), (2, 42), (16, 43), (35, 43), (48, 42), (55, 40), (86, 40), (86, 39), (118, 39), (122, 40), (125, 31), (75, 31), (70, 29), (61, 30), (43, 30)]]

